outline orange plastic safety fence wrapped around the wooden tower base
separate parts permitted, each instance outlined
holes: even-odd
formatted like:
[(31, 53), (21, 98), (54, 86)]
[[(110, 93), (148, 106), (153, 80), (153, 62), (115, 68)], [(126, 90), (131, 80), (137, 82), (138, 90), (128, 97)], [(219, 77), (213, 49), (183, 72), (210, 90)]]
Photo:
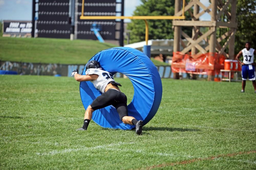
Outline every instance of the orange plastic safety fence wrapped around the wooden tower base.
[(225, 56), (218, 53), (206, 53), (199, 55), (173, 53), (172, 72), (218, 75), (224, 69)]

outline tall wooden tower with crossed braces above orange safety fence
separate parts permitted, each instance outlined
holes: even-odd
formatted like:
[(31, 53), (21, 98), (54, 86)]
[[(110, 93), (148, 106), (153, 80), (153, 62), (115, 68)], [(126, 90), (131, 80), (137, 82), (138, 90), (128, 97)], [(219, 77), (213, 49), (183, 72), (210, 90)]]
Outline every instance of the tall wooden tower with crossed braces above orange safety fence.
[[(180, 52), (184, 54), (190, 50), (192, 55), (205, 53), (214, 54), (218, 52), (218, 54), (222, 54), (229, 59), (234, 59), (234, 42), (237, 28), (236, 1), (237, 0), (210, 0), (211, 3), (208, 7), (199, 0), (190, 0), (187, 4), (185, 3), (185, 11), (189, 12), (191, 20), (173, 20), (173, 51), (180, 51), (180, 45), (182, 45), (184, 49)], [(182, 1), (175, 0), (175, 16), (182, 15), (181, 3)], [(201, 12), (199, 12), (199, 7), (202, 9)], [(211, 21), (199, 21), (199, 17), (206, 12), (211, 16)], [(181, 27), (191, 27), (192, 37), (183, 32)], [(207, 32), (202, 33), (200, 32), (201, 27), (208, 27), (209, 29)], [(216, 36), (217, 30), (222, 30), (222, 32), (218, 31), (218, 38)], [(189, 42), (187, 45), (181, 41), (181, 36), (186, 38)], [(201, 47), (199, 43), (202, 40), (208, 42), (209, 45), (205, 48)], [(221, 45), (221, 41), (226, 42)], [(229, 46), (229, 51), (225, 53), (227, 46)], [(212, 78), (212, 76), (209, 76), (208, 80), (212, 80)]]

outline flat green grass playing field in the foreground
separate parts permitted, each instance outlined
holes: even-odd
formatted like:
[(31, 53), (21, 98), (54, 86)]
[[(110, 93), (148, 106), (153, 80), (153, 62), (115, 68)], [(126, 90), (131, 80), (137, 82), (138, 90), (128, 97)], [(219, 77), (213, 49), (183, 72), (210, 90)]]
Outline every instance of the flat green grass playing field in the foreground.
[[(116, 81), (131, 101), (131, 82)], [(93, 121), (77, 132), (84, 108), (72, 77), (0, 76), (0, 169), (256, 169), (251, 82), (245, 93), (234, 82), (162, 83), (137, 136)]]

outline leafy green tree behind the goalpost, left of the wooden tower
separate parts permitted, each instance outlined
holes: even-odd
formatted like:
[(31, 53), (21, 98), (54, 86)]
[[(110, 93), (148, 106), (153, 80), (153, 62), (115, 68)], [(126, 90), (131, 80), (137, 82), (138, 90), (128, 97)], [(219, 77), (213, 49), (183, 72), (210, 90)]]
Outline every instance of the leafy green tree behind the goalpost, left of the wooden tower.
[[(175, 0), (141, 0), (142, 5), (137, 6), (133, 16), (173, 16)], [(187, 20), (190, 16), (186, 13)], [(147, 20), (149, 39), (172, 39), (172, 20)], [(130, 32), (130, 43), (145, 41), (145, 22), (132, 20), (127, 26)], [(188, 35), (191, 28), (182, 28)]]

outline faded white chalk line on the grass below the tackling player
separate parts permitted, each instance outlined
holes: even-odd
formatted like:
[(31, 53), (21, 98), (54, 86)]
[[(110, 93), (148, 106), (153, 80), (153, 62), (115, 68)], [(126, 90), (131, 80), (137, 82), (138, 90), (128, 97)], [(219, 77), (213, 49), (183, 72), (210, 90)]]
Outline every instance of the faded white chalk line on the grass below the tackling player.
[(76, 152), (76, 151), (88, 151), (88, 150), (94, 150), (94, 149), (105, 149), (105, 148), (109, 148), (109, 147), (113, 147), (113, 146), (121, 146), (121, 145), (127, 145), (127, 144), (133, 144), (134, 142), (119, 142), (119, 143), (111, 143), (109, 145), (99, 145), (99, 146), (95, 146), (95, 147), (84, 147), (84, 148), (77, 148), (77, 149), (64, 149), (61, 151), (58, 150), (53, 150), (50, 152), (46, 152), (46, 153), (39, 153), (37, 152), (37, 155), (55, 155), (55, 154), (62, 154), (62, 153), (68, 153), (68, 152)]

